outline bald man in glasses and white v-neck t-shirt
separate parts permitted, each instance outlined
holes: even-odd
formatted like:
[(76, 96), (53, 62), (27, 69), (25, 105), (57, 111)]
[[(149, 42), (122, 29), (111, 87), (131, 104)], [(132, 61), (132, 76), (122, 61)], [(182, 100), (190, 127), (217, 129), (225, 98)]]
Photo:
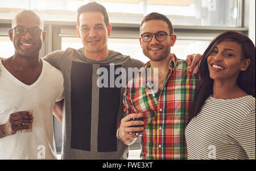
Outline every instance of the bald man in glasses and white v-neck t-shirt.
[(35, 12), (23, 10), (9, 30), (15, 52), (0, 60), (0, 159), (57, 159), (52, 111), (63, 99), (64, 80), (39, 58), (43, 29)]

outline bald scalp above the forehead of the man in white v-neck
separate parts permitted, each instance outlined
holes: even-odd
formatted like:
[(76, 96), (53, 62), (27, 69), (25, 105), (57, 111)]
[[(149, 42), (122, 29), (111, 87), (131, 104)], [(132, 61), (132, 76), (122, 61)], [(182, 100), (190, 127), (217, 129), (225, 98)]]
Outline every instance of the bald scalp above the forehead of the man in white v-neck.
[(37, 24), (40, 29), (44, 30), (44, 22), (36, 12), (32, 10), (19, 11), (13, 21), (11, 22), (11, 28), (16, 27), (19, 23)]

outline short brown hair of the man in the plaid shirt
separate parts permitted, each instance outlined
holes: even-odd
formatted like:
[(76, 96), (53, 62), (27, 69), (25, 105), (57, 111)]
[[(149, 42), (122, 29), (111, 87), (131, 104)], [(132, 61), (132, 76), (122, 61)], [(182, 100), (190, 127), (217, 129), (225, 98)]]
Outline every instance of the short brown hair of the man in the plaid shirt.
[[(147, 14), (144, 19), (141, 22), (141, 26), (144, 22), (147, 22), (149, 20), (163, 20), (164, 22), (166, 22), (168, 24), (170, 33), (169, 34), (173, 34), (174, 33), (174, 27), (172, 27), (172, 23), (170, 21), (170, 19), (167, 18), (167, 16), (163, 15), (163, 14), (159, 14), (158, 12), (151, 12), (150, 14)], [(139, 30), (141, 31), (141, 27), (139, 27)]]

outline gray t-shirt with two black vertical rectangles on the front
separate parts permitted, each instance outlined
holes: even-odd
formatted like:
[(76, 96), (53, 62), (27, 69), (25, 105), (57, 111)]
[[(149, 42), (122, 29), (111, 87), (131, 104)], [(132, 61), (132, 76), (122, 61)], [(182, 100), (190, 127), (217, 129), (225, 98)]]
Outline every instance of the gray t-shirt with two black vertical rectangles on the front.
[(64, 77), (61, 159), (127, 159), (128, 145), (116, 137), (123, 118), (120, 85), (129, 81), (128, 68), (139, 69), (143, 62), (114, 51), (94, 61), (84, 56), (84, 48), (54, 51), (44, 60)]

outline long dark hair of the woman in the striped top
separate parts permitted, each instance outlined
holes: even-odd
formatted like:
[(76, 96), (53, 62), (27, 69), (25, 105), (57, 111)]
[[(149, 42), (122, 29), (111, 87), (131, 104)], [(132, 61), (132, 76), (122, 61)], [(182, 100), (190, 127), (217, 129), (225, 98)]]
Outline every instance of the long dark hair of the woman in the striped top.
[(237, 78), (237, 85), (247, 94), (255, 97), (255, 45), (249, 37), (234, 31), (222, 32), (215, 37), (205, 50), (199, 64), (200, 83), (193, 96), (188, 122), (201, 110), (206, 99), (213, 94), (213, 80), (209, 76), (207, 58), (213, 48), (223, 40), (232, 40), (241, 44), (242, 56), (250, 59), (250, 65), (245, 71), (241, 71)]

